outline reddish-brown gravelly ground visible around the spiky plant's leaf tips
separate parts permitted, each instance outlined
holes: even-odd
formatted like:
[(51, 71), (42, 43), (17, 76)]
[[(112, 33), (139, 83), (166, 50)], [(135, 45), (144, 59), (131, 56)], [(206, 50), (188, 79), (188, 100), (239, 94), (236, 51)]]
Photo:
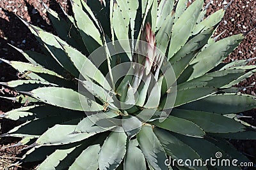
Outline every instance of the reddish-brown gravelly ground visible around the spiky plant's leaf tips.
[[(68, 0), (43, 0), (53, 10), (61, 12), (60, 6), (68, 11)], [(97, 1), (97, 0), (95, 0)], [(205, 0), (205, 3), (209, 3), (211, 0)], [(220, 8), (223, 8), (231, 0), (214, 0), (211, 1), (207, 13), (213, 13)], [(37, 25), (46, 31), (54, 32), (51, 26), (51, 22), (47, 17), (46, 10), (41, 3), (41, 0), (0, 0), (0, 57), (7, 60), (21, 60), (26, 61), (24, 57), (17, 51), (15, 51), (8, 43), (13, 46), (17, 46), (22, 50), (35, 50), (40, 52), (40, 48), (36, 43), (35, 38), (29, 32), (22, 22), (15, 16), (18, 15), (24, 18), (31, 24)], [(223, 18), (220, 27), (216, 31), (216, 35), (221, 34), (220, 38), (225, 38), (232, 34), (246, 33), (256, 26), (256, 1), (255, 0), (234, 0), (226, 10), (225, 17)], [(244, 40), (241, 42), (236, 50), (230, 54), (227, 61), (237, 59), (252, 59), (256, 57), (256, 31), (250, 31)], [(252, 60), (250, 64), (255, 65), (255, 60)], [(10, 66), (0, 62), (0, 81), (9, 81), (17, 79), (17, 75), (14, 69)], [(255, 81), (256, 75), (239, 83), (239, 87), (243, 88), (241, 92), (246, 94), (255, 95)], [(1, 88), (1, 87), (0, 87)], [(10, 111), (13, 108), (19, 107), (19, 104), (12, 103), (10, 101), (0, 99), (0, 114), (6, 111)], [(256, 110), (246, 111), (241, 113), (252, 118), (247, 118), (245, 121), (250, 122), (256, 126)], [(11, 122), (9, 120), (0, 119), (1, 129), (0, 134), (8, 132), (17, 122)], [(10, 169), (33, 169), (35, 165), (24, 164), (21, 166), (12, 165), (13, 162), (19, 160), (20, 149), (19, 147), (3, 148), (3, 146), (10, 146), (17, 143), (19, 139), (14, 138), (1, 138), (0, 139), (0, 169), (4, 167), (10, 167)], [(232, 141), (244, 154), (248, 155), (250, 159), (255, 162), (256, 157), (256, 143), (255, 141)], [(9, 169), (9, 168), (8, 168)]]

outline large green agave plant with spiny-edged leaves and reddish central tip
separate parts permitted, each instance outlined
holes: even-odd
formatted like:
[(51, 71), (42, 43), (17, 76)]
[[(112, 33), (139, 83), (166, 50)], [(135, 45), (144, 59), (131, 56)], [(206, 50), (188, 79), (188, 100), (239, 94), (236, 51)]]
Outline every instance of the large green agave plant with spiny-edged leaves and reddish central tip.
[(204, 1), (187, 3), (72, 0), (65, 18), (45, 6), (57, 35), (22, 20), (44, 53), (13, 46), (28, 62), (1, 59), (19, 72), (19, 80), (1, 83), (17, 94), (6, 99), (23, 104), (1, 115), (22, 122), (1, 135), (22, 138), (19, 162), (39, 161), (37, 169), (220, 169), (174, 161), (220, 158), (215, 153), (250, 162), (228, 139), (256, 139), (255, 127), (237, 115), (255, 108), (255, 96), (234, 87), (256, 66), (222, 62), (245, 35), (216, 41), (225, 10), (205, 18)]

